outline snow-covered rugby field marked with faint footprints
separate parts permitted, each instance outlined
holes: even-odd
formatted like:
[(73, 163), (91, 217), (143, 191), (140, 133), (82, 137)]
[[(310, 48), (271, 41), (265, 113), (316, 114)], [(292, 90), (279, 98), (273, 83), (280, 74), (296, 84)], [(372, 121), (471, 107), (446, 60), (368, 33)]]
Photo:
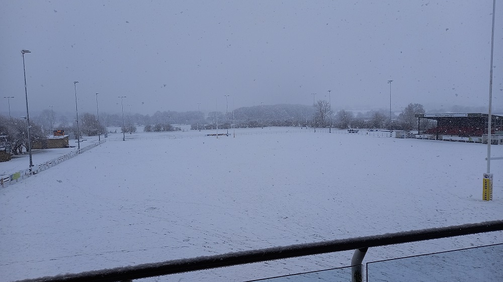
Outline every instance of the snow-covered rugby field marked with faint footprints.
[[(0, 189), (1, 281), (503, 218), (503, 161), (491, 162), (493, 200), (482, 201), (486, 145), (319, 131), (135, 135), (144, 138), (111, 138)], [(503, 146), (491, 151), (503, 157)], [(364, 262), (502, 242), (491, 232), (371, 248)], [(351, 256), (148, 280), (243, 281), (346, 266)]]

